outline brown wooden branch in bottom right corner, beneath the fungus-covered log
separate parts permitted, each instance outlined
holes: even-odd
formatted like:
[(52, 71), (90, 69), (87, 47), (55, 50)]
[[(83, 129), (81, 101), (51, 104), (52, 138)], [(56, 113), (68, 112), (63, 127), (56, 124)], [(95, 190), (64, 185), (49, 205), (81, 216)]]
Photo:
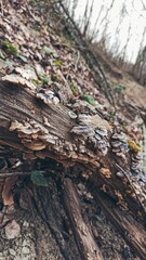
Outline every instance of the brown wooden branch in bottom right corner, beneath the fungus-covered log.
[(132, 216), (125, 211), (119, 210), (118, 207), (103, 193), (98, 193), (92, 186), (93, 195), (107, 218), (117, 227), (122, 237), (127, 240), (134, 252), (142, 259), (146, 259), (146, 231)]

